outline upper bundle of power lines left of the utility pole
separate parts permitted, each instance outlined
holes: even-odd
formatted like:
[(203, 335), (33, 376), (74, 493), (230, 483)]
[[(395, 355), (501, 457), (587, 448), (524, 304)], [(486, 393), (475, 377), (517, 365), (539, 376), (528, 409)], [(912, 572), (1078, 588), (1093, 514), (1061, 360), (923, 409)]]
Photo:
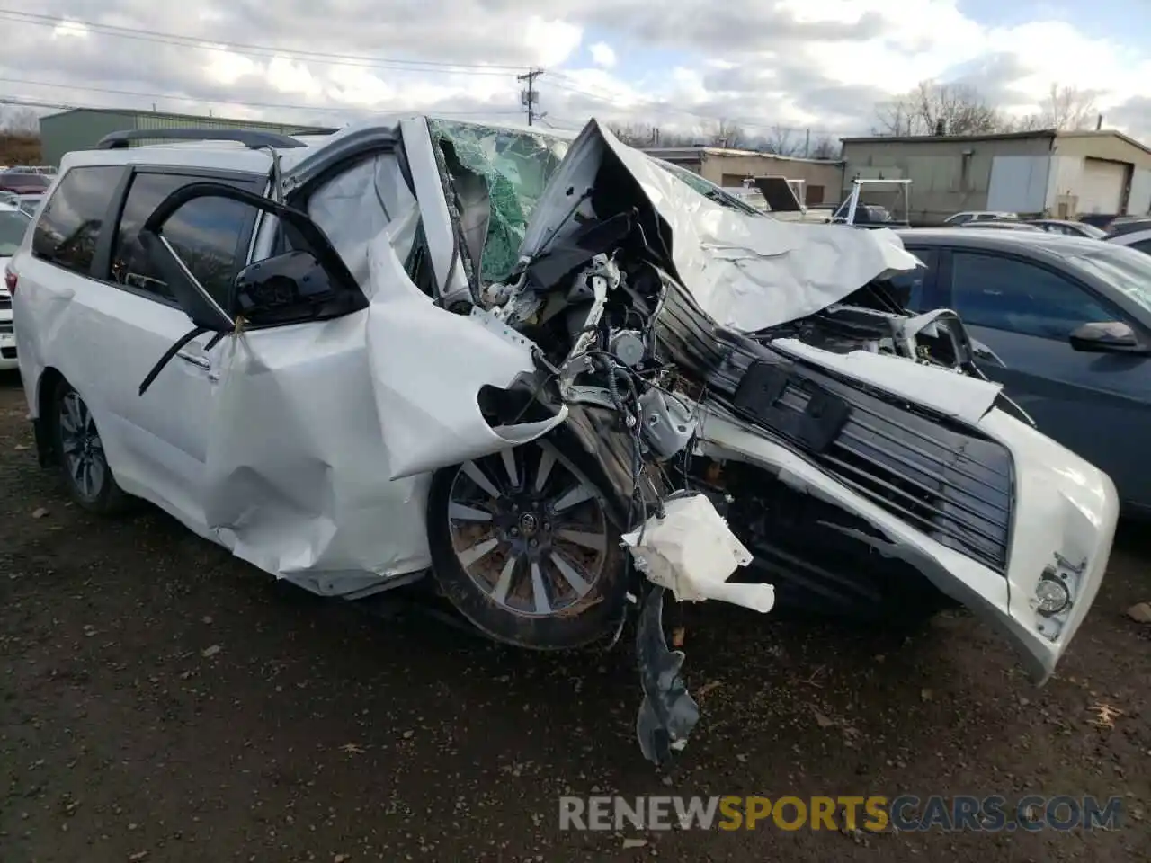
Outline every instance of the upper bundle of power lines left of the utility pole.
[(466, 72), (467, 75), (501, 76), (524, 69), (523, 66), (501, 66), (496, 63), (448, 63), (435, 60), (399, 60), (395, 58), (365, 56), (363, 54), (335, 54), (320, 51), (276, 48), (268, 45), (250, 45), (246, 43), (231, 43), (221, 39), (180, 36), (178, 33), (168, 33), (160, 30), (145, 30), (140, 28), (119, 26), (114, 24), (97, 24), (89, 21), (82, 21), (79, 18), (37, 15), (33, 13), (20, 12), (18, 9), (0, 8), (0, 20), (31, 24), (32, 26), (83, 26), (84, 29), (91, 30), (92, 32), (101, 36), (110, 36), (120, 39), (136, 39), (139, 41), (180, 45), (183, 47), (199, 48), (201, 51), (228, 52), (231, 54), (246, 54), (250, 56), (283, 56), (329, 66), (359, 66), (381, 69), (391, 68), (440, 75)]

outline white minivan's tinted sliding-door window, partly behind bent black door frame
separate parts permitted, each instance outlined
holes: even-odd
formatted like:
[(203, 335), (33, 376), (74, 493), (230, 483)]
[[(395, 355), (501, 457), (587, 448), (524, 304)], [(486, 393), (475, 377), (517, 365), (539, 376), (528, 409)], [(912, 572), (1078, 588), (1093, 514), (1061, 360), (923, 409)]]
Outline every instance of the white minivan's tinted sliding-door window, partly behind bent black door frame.
[[(112, 281), (171, 299), (171, 291), (155, 272), (139, 244), (139, 230), (160, 203), (189, 183), (223, 183), (262, 191), (264, 180), (231, 180), (182, 174), (139, 173), (132, 177), (112, 250)], [(213, 298), (224, 305), (236, 273), (247, 260), (256, 211), (223, 198), (200, 198), (176, 211), (163, 226), (163, 236)]]

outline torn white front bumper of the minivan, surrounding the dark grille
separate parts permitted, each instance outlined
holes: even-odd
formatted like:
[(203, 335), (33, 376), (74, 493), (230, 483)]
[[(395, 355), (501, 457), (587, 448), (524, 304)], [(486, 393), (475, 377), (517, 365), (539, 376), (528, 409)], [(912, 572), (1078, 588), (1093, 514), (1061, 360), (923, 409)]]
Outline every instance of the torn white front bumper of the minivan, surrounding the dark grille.
[[(906, 560), (943, 593), (1005, 634), (1036, 685), (1046, 682), (1082, 624), (1107, 568), (1119, 515), (1114, 483), (1054, 441), (993, 408), (977, 429), (1012, 455), (1014, 504), (1006, 566), (992, 568), (917, 529), (897, 512), (817, 466), (793, 446), (764, 436), (727, 410), (702, 406), (708, 455), (767, 466), (782, 482), (818, 495), (877, 528), (849, 532), (877, 552)], [(1072, 589), (1059, 617), (1038, 611), (1036, 588), (1054, 567)]]

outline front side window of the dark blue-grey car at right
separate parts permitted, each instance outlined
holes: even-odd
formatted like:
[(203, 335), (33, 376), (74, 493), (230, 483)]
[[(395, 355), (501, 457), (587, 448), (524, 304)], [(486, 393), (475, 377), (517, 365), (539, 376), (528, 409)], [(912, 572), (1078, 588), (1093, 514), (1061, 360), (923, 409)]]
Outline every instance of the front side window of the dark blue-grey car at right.
[(954, 252), (951, 295), (952, 307), (968, 324), (1041, 338), (1066, 339), (1084, 323), (1115, 319), (1058, 273), (992, 254)]

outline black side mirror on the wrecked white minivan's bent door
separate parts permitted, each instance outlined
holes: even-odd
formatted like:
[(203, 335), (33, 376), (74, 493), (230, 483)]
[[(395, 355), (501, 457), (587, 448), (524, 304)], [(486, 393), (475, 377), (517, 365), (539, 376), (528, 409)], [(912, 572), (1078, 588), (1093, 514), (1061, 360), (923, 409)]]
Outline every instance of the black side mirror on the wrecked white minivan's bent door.
[(331, 278), (314, 254), (285, 252), (242, 269), (233, 284), (230, 307), (252, 323), (307, 316), (335, 299)]

